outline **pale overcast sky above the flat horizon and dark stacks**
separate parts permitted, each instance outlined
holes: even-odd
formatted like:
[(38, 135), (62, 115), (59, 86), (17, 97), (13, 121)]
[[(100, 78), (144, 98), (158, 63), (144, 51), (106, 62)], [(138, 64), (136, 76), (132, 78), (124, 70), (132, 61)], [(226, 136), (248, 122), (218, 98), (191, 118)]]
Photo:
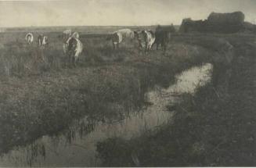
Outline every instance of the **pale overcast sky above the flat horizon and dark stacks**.
[(256, 0), (0, 1), (0, 27), (180, 24), (237, 10), (256, 22)]

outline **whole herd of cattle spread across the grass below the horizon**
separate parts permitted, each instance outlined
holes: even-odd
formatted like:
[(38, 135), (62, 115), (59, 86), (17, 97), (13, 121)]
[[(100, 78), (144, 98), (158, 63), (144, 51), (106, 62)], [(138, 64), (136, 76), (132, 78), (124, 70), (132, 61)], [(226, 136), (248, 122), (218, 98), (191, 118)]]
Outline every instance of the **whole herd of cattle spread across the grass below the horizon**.
[[(106, 40), (112, 41), (113, 48), (119, 48), (119, 44), (123, 41), (137, 41), (139, 44), (139, 49), (144, 50), (148, 54), (153, 45), (160, 45), (162, 50), (167, 49), (168, 41), (171, 34), (175, 33), (175, 28), (171, 27), (160, 27), (158, 26), (153, 32), (153, 30), (131, 30), (131, 29), (121, 29), (114, 31), (114, 33), (108, 34)], [(72, 34), (71, 30), (63, 31), (63, 54), (67, 57), (70, 65), (76, 66), (78, 62), (78, 57), (81, 55), (83, 50), (83, 44), (79, 39), (78, 32)], [(31, 45), (34, 41), (34, 36), (32, 33), (27, 33), (25, 37), (27, 44)], [(38, 35), (38, 47), (48, 46), (49, 39), (43, 34)]]

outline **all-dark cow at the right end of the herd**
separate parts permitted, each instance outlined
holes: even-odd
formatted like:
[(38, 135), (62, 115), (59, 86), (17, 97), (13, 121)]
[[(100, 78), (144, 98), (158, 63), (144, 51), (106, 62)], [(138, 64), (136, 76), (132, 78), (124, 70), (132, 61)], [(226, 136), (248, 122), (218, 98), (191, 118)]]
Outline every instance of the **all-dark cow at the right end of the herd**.
[(160, 45), (162, 50), (164, 52), (166, 51), (172, 33), (175, 33), (175, 27), (173, 27), (173, 25), (164, 27), (160, 25), (157, 26), (155, 31), (156, 40), (154, 42), (154, 44), (157, 45), (157, 50)]

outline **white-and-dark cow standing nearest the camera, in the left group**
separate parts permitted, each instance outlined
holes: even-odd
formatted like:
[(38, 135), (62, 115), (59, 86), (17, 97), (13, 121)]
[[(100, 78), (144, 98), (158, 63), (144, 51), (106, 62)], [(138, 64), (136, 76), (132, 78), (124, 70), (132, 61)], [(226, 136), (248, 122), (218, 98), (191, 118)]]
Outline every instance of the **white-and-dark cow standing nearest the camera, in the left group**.
[(83, 45), (78, 38), (70, 37), (67, 41), (67, 57), (70, 65), (77, 65), (78, 57), (83, 50)]

